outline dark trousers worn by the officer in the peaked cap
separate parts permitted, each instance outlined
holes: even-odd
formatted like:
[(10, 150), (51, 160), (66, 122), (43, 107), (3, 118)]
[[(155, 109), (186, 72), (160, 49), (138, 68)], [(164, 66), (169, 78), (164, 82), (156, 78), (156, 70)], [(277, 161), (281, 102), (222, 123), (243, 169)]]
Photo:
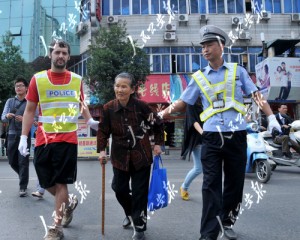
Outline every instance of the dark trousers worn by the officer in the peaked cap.
[(246, 131), (204, 132), (201, 161), (203, 208), (200, 233), (217, 239), (218, 218), (223, 226), (233, 225), (242, 202), (247, 162)]

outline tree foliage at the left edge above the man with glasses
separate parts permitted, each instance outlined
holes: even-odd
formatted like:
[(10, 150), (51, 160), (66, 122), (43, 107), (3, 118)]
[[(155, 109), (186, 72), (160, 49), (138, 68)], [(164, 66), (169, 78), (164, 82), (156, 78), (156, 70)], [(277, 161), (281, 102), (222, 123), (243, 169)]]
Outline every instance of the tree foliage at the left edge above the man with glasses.
[(14, 38), (9, 33), (2, 36), (0, 45), (0, 112), (8, 98), (15, 96), (14, 80), (23, 76), (30, 81), (33, 69), (21, 56), (19, 46), (13, 45)]

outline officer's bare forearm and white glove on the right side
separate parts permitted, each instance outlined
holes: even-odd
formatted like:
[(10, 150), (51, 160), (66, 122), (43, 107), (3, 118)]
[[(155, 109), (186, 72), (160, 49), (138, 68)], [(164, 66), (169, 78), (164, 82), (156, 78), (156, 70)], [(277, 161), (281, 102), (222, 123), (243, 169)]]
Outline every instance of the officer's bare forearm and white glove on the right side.
[(265, 100), (265, 98), (263, 97), (263, 95), (259, 92), (256, 91), (253, 93), (252, 95), (254, 101), (256, 102), (256, 104), (259, 106), (259, 108), (267, 115), (268, 118), (268, 130), (269, 132), (272, 132), (273, 128), (278, 129), (279, 132), (281, 132), (281, 127), (279, 125), (279, 123), (276, 120), (275, 115), (273, 114), (273, 111), (269, 105), (269, 103), (267, 102), (267, 100)]

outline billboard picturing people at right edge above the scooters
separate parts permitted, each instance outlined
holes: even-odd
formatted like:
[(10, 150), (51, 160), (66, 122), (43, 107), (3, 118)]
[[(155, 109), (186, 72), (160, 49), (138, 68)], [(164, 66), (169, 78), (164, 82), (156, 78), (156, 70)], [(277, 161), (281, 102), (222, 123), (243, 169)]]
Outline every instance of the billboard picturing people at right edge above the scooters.
[(274, 101), (300, 101), (300, 58), (271, 57), (255, 66), (256, 85)]

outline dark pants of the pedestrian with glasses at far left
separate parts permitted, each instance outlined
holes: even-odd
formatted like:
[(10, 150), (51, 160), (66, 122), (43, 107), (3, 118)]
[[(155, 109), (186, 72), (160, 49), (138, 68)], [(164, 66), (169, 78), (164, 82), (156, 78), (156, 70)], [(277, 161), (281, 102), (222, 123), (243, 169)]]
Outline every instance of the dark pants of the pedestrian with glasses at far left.
[[(8, 135), (7, 158), (11, 168), (19, 175), (20, 189), (27, 189), (29, 180), (29, 155), (23, 157), (19, 150), (20, 137), (14, 134)], [(31, 139), (27, 140), (27, 146), (30, 148)]]

